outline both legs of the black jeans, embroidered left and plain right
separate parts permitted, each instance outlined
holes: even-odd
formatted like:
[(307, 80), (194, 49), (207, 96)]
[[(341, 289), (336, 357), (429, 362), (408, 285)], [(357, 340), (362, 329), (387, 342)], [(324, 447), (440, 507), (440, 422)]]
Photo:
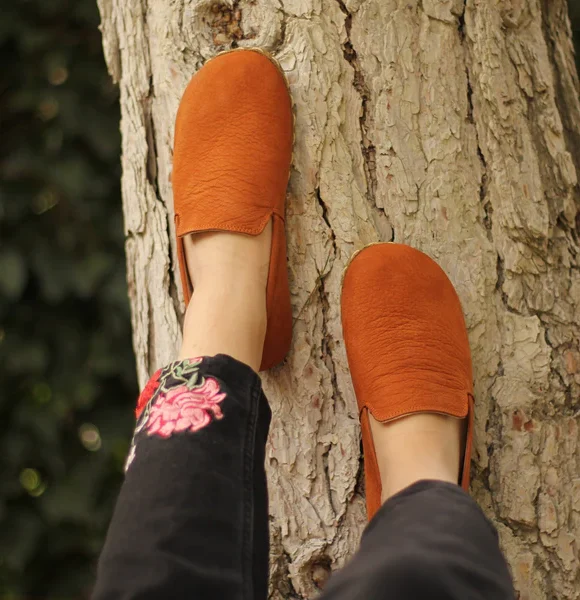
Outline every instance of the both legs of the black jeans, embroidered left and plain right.
[[(174, 362), (141, 395), (94, 600), (265, 600), (270, 409), (259, 377), (218, 355)], [(497, 533), (459, 487), (391, 498), (322, 598), (513, 600)]]

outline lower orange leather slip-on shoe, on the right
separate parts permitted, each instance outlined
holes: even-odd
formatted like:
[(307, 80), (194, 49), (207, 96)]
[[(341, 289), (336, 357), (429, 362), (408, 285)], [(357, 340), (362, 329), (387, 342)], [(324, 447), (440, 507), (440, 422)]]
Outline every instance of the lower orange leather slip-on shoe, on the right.
[(367, 512), (381, 506), (369, 424), (414, 413), (467, 418), (458, 483), (469, 487), (473, 437), (471, 353), (453, 284), (426, 254), (374, 244), (354, 255), (342, 287), (342, 328), (360, 411)]

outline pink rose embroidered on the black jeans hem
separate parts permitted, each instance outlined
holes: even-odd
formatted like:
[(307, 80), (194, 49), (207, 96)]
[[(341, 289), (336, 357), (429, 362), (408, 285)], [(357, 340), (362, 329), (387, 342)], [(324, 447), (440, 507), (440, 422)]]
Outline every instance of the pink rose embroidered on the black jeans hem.
[(160, 394), (151, 407), (147, 420), (149, 435), (169, 437), (179, 431), (199, 431), (212, 420), (221, 419), (219, 403), (226, 397), (215, 379), (208, 377), (203, 385), (188, 389), (185, 385)]

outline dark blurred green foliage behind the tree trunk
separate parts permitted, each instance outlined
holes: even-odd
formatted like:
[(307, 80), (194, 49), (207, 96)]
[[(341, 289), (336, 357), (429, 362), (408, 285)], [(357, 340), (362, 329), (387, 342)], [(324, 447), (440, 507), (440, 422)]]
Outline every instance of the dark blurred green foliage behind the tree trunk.
[(133, 425), (118, 92), (98, 24), (96, 0), (0, 7), (1, 600), (88, 596)]

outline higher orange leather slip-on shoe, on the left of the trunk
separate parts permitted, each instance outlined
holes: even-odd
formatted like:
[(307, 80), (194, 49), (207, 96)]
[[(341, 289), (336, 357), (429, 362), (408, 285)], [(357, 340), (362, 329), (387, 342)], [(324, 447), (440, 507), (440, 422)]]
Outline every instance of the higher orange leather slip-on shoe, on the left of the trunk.
[(173, 197), (186, 304), (192, 294), (183, 237), (261, 233), (272, 219), (268, 324), (260, 370), (284, 360), (292, 337), (284, 209), (294, 119), (288, 83), (272, 57), (234, 50), (192, 78), (177, 112)]

